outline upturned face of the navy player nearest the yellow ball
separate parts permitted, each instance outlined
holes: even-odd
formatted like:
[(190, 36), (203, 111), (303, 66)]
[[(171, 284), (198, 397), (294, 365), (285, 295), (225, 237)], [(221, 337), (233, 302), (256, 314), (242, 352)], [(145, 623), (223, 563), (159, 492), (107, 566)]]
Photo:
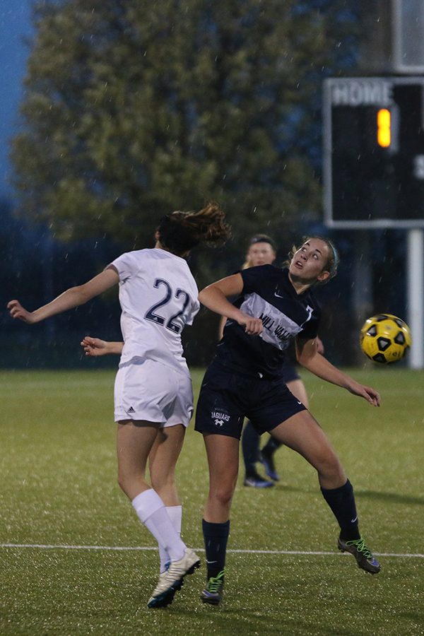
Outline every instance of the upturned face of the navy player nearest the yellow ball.
[(293, 255), (289, 271), (300, 281), (325, 281), (329, 277), (326, 269), (329, 261), (329, 247), (321, 239), (308, 239)]

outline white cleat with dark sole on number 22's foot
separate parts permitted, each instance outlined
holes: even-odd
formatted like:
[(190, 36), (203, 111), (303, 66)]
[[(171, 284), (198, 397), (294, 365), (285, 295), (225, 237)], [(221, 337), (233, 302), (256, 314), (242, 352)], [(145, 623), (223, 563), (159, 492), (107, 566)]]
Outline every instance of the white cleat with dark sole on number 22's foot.
[(193, 574), (200, 566), (200, 559), (190, 548), (185, 548), (184, 556), (178, 561), (171, 561), (170, 567), (159, 575), (148, 607), (166, 607), (174, 600), (175, 592), (182, 588), (184, 577)]

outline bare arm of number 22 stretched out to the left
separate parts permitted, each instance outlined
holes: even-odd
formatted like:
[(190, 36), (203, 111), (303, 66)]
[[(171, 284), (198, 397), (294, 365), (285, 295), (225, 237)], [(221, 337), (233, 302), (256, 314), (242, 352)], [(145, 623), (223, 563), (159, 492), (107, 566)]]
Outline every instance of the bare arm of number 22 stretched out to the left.
[(34, 324), (55, 314), (66, 312), (73, 307), (83, 305), (88, 300), (91, 300), (91, 298), (98, 296), (118, 282), (119, 276), (116, 269), (110, 267), (102, 271), (98, 276), (91, 278), (87, 283), (67, 289), (63, 294), (54, 298), (52, 302), (43, 305), (43, 307), (40, 307), (34, 312), (25, 310), (25, 307), (23, 307), (18, 300), (8, 302), (7, 308), (12, 318), (17, 318), (27, 324)]

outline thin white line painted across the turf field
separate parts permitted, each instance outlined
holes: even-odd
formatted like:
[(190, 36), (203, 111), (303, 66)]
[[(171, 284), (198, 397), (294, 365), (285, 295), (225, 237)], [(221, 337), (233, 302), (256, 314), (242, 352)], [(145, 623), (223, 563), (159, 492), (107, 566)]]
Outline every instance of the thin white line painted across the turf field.
[[(112, 551), (130, 551), (130, 550), (157, 550), (151, 546), (66, 546), (66, 545), (43, 545), (42, 543), (0, 543), (0, 548), (33, 548), (38, 550), (112, 550)], [(204, 552), (204, 548), (194, 548), (196, 552)], [(339, 552), (312, 552), (307, 550), (227, 550), (236, 554), (286, 554), (286, 555), (307, 555), (307, 556), (334, 556), (341, 555)], [(408, 554), (408, 553), (384, 553), (375, 552), (375, 556), (394, 557), (394, 558), (411, 558), (424, 559), (424, 554)]]

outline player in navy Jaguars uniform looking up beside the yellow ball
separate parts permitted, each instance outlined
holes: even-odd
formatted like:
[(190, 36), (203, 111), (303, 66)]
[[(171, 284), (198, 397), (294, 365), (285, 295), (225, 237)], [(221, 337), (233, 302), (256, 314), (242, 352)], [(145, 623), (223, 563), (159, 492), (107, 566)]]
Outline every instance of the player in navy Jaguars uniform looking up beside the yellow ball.
[[(205, 603), (218, 604), (222, 596), (230, 505), (245, 417), (259, 432), (272, 432), (314, 466), (322, 495), (340, 526), (338, 548), (352, 553), (363, 570), (380, 570), (360, 536), (353, 488), (334, 449), (281, 379), (284, 351), (295, 338), (301, 365), (379, 406), (375, 389), (359, 384), (317, 352), (320, 312), (311, 288), (334, 276), (337, 260), (331, 242), (310, 237), (295, 250), (287, 269), (272, 265), (245, 269), (208, 285), (199, 294), (206, 307), (228, 317), (196, 409), (196, 430), (204, 435), (210, 475), (203, 519), (208, 563), (201, 593)], [(234, 296), (238, 298), (232, 305), (227, 298)]]

